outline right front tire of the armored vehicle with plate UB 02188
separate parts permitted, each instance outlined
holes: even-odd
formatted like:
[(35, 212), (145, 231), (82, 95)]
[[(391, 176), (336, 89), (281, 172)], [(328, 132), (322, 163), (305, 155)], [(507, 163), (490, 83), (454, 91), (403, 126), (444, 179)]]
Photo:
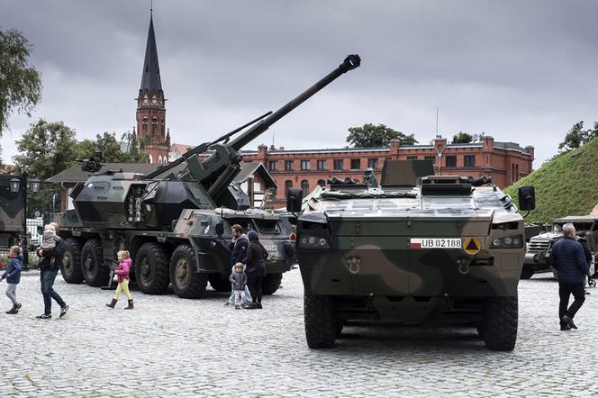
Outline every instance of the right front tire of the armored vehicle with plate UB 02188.
[(483, 339), (494, 351), (512, 351), (517, 342), (518, 301), (515, 297), (492, 297), (486, 308)]

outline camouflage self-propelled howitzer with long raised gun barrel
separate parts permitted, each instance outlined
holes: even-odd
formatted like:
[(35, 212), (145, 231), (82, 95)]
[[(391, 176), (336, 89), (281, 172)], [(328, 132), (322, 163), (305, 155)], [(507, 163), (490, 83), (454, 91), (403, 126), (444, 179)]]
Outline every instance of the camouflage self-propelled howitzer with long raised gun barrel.
[[(59, 222), (67, 247), (64, 279), (105, 285), (116, 251), (128, 249), (133, 278), (143, 293), (162, 294), (172, 284), (181, 297), (200, 297), (208, 282), (215, 290), (227, 291), (231, 225), (240, 224), (245, 231), (258, 231), (270, 254), (264, 290), (274, 293), (283, 272), (294, 264), (294, 234), (288, 218), (248, 209), (247, 194), (231, 185), (240, 172), (240, 149), (337, 77), (358, 68), (359, 61), (350, 55), (276, 112), (199, 145), (147, 176), (115, 170), (95, 173), (77, 185), (71, 193), (75, 209), (51, 220)], [(206, 150), (212, 156), (202, 158)], [(92, 160), (85, 163), (86, 169), (98, 168)]]

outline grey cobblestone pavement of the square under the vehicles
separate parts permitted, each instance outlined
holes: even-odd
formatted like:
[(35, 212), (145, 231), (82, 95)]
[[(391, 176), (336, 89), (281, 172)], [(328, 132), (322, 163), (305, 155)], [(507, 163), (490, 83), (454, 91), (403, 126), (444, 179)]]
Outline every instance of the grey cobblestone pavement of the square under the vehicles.
[[(541, 396), (598, 394), (598, 289), (558, 330), (557, 284), (520, 284), (520, 330), (512, 353), (487, 351), (475, 330), (348, 326), (328, 350), (307, 348), (299, 271), (267, 296), (264, 309), (132, 291), (135, 309), (104, 307), (112, 292), (68, 285), (59, 319), (42, 312), (38, 276), (18, 287), (23, 309), (0, 313), (0, 396)], [(2, 286), (4, 292), (5, 285)], [(8, 307), (2, 296), (0, 303)], [(3, 306), (3, 308), (4, 308)]]

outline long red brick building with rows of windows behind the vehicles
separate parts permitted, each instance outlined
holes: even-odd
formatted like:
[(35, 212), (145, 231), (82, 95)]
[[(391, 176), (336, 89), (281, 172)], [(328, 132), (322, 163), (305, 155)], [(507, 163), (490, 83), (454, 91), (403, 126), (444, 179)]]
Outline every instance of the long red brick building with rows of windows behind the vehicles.
[(243, 151), (244, 161), (259, 161), (276, 181), (275, 204), (283, 204), (286, 188), (302, 187), (310, 192), (331, 176), (362, 177), (367, 167), (382, 170), (385, 159), (429, 159), (439, 175), (492, 176), (501, 188), (531, 173), (534, 148), (521, 148), (513, 142), (497, 142), (485, 136), (482, 142), (449, 144), (446, 138), (430, 145), (400, 145), (393, 140), (389, 147), (355, 149), (285, 150), (260, 145), (258, 151)]

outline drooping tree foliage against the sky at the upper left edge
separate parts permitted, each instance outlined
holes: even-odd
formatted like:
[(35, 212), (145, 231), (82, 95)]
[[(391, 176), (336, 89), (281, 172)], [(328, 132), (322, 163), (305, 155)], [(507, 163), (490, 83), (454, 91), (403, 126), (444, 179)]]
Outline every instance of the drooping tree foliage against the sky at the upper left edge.
[(41, 74), (29, 66), (32, 46), (19, 31), (0, 30), (0, 137), (16, 111), (31, 116), (41, 97)]

